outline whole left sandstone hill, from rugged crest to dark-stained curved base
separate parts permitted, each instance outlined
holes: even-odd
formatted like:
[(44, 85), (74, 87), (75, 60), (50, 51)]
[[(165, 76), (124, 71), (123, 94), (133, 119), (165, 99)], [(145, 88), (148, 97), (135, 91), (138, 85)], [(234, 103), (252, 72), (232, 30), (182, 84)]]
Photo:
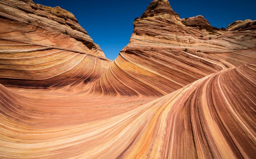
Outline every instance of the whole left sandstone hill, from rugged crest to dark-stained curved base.
[(6, 86), (50, 88), (78, 79), (84, 85), (112, 62), (74, 15), (60, 7), (0, 0), (0, 21), (0, 83)]

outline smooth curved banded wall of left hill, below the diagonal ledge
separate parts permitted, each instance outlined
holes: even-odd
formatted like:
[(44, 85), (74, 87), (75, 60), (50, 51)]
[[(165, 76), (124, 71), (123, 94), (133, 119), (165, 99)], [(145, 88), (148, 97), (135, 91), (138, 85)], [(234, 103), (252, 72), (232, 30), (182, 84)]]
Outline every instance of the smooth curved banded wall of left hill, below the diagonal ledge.
[[(85, 85), (99, 78), (111, 63), (66, 50), (8, 43), (0, 46), (4, 51), (0, 57), (0, 83), (6, 86), (49, 88), (74, 83)], [(85, 89), (84, 86), (82, 88)]]

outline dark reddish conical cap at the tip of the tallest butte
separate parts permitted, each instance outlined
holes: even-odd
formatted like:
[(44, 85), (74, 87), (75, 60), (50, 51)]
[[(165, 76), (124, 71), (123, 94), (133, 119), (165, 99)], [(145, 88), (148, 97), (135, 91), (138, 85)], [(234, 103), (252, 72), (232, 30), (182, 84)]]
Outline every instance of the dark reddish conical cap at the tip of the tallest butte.
[(175, 11), (173, 11), (168, 0), (155, 0), (150, 3), (149, 7), (142, 14), (141, 18), (162, 14), (179, 16)]

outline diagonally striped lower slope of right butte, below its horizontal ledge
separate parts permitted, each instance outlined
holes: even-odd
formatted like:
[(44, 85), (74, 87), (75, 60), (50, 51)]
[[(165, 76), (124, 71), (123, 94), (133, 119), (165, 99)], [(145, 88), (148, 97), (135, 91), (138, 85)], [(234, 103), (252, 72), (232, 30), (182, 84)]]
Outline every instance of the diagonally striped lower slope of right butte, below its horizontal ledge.
[[(140, 86), (134, 84), (130, 86), (134, 91), (148, 96), (147, 91), (143, 90), (147, 85), (153, 91), (150, 96), (156, 95), (160, 97), (220, 70), (254, 62), (256, 60), (254, 54), (254, 48), (222, 53), (204, 53), (196, 50), (185, 52), (180, 49), (161, 51), (144, 50), (143, 48), (142, 50), (129, 49), (120, 52), (115, 63), (109, 68), (114, 70), (118, 67), (121, 71), (116, 72), (115, 75), (113, 75), (113, 72), (107, 71), (102, 78), (114, 76), (128, 80), (129, 77), (140, 83)], [(124, 73), (126, 76), (123, 75)], [(114, 79), (102, 78), (96, 83), (97, 86), (94, 86), (102, 88), (98, 89), (97, 92), (103, 94), (126, 94), (125, 89), (116, 89), (120, 86), (120, 83), (113, 82), (115, 81)], [(130, 83), (126, 80), (124, 82), (126, 84)], [(124, 84), (121, 85), (126, 87)]]

